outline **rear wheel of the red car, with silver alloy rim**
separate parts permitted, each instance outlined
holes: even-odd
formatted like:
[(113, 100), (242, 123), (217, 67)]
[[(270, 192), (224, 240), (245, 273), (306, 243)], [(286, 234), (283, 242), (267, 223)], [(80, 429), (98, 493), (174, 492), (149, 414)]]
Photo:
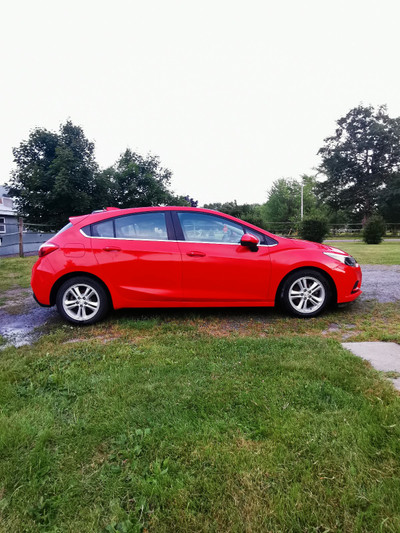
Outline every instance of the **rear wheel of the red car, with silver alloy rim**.
[(98, 322), (109, 309), (107, 293), (103, 286), (85, 276), (65, 281), (58, 289), (56, 305), (65, 320), (80, 326)]

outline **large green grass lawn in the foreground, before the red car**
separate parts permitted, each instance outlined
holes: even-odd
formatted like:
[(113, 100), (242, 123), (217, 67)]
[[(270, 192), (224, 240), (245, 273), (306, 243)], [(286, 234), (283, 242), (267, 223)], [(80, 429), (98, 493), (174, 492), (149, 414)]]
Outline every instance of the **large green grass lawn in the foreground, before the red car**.
[(400, 531), (400, 398), (337, 342), (400, 342), (399, 312), (126, 311), (4, 349), (0, 531)]

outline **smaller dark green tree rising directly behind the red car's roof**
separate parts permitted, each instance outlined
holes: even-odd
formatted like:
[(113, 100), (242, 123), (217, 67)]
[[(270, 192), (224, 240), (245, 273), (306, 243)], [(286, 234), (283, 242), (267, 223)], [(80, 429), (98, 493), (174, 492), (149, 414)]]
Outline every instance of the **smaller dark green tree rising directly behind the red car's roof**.
[[(170, 205), (178, 200), (168, 189), (172, 172), (162, 168), (154, 155), (142, 157), (128, 148), (102, 176), (110, 184), (110, 203), (116, 207)], [(183, 198), (178, 201), (184, 203)]]

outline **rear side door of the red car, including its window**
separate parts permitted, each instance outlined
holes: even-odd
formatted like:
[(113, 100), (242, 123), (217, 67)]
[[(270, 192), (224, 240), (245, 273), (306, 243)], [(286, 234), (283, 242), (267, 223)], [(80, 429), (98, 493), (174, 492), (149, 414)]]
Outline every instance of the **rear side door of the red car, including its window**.
[(90, 232), (101, 277), (124, 305), (163, 305), (182, 297), (181, 252), (168, 212), (113, 217), (92, 224)]

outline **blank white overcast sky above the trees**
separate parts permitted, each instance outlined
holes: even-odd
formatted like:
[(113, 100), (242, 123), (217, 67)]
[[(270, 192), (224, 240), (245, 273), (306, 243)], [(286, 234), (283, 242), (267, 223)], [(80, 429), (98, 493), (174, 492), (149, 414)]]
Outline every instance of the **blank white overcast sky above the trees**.
[(0, 183), (13, 146), (70, 118), (100, 166), (157, 154), (172, 189), (264, 202), (318, 164), (352, 107), (400, 115), (398, 0), (8, 0)]

